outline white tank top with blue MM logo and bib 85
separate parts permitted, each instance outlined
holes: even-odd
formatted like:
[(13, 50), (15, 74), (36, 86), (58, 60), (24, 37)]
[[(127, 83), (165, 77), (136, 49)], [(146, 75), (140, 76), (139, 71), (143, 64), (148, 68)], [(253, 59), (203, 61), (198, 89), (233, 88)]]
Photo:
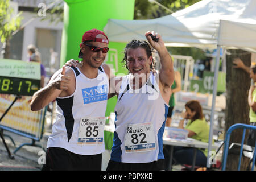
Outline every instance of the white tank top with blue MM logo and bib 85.
[[(108, 76), (102, 67), (93, 79), (87, 78), (77, 67), (70, 68), (76, 77), (76, 89), (71, 96), (56, 98), (56, 122), (53, 123), (47, 148), (65, 148), (80, 155), (100, 154), (105, 151)], [(100, 121), (96, 119), (99, 117)]]

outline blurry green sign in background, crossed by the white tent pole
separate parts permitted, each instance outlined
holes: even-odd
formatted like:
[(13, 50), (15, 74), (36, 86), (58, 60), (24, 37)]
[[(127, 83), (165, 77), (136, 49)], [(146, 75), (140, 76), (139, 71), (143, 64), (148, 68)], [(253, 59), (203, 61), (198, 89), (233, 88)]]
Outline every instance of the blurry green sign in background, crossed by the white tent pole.
[[(212, 93), (214, 83), (214, 72), (204, 71), (202, 80), (191, 80), (190, 90), (200, 93)], [(226, 91), (226, 73), (218, 73), (217, 92)]]

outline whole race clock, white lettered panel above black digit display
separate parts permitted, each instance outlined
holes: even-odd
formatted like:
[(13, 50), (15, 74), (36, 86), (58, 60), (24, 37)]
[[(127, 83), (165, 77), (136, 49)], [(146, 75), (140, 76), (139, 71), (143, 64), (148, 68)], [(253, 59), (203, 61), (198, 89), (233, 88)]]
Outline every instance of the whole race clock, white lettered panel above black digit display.
[(0, 93), (32, 96), (40, 78), (40, 63), (0, 59)]

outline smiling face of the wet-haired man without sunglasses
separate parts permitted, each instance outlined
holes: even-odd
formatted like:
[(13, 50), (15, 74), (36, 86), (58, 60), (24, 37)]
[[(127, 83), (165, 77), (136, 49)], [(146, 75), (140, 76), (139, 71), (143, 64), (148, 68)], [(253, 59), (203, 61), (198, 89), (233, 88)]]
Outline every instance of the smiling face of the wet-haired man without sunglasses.
[(150, 65), (152, 62), (152, 56), (147, 57), (146, 50), (138, 47), (136, 49), (129, 48), (127, 50), (127, 68), (130, 73), (150, 73)]

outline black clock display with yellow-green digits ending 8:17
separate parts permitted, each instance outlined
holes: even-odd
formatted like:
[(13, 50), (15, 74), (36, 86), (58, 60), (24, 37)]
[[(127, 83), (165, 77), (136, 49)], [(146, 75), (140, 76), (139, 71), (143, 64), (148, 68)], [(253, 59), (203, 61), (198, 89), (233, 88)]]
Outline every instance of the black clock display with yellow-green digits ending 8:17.
[(40, 80), (0, 76), (0, 93), (32, 96), (40, 88)]

